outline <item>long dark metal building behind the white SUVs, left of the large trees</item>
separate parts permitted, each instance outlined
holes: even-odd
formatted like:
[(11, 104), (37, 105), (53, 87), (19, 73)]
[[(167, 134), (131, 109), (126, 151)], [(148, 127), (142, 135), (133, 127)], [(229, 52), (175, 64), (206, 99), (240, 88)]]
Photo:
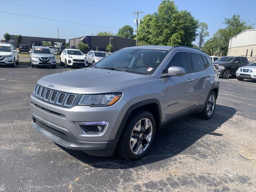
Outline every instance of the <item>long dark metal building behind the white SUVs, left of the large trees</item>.
[(84, 42), (89, 45), (89, 50), (106, 51), (108, 44), (112, 44), (114, 51), (130, 46), (136, 46), (136, 40), (118, 36), (83, 36), (69, 40), (69, 48), (76, 49), (78, 42)]

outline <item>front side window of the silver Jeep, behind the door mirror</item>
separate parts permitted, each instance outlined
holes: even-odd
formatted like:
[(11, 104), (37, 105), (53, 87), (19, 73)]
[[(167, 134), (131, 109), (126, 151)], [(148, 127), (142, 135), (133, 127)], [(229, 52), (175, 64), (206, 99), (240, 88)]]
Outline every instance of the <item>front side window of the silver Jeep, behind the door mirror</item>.
[(185, 69), (186, 73), (189, 73), (189, 62), (186, 52), (176, 53), (172, 59), (169, 61), (168, 65), (164, 69), (164, 73), (168, 73), (169, 67), (182, 67)]

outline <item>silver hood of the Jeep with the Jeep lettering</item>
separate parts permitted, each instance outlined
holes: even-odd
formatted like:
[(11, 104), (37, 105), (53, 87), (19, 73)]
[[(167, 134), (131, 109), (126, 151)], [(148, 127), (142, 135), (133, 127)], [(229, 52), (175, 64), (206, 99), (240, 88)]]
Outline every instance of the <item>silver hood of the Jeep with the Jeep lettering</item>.
[(148, 76), (107, 69), (82, 68), (45, 76), (38, 84), (76, 94), (108, 93), (148, 80)]

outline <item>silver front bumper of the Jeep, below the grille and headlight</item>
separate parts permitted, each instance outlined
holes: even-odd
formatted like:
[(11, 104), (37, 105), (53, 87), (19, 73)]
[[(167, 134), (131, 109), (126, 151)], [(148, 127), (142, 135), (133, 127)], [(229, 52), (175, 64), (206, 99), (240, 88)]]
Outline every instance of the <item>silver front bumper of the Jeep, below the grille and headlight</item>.
[[(114, 153), (120, 137), (117, 130), (130, 106), (123, 98), (108, 107), (74, 106), (64, 108), (44, 102), (34, 96), (31, 96), (31, 101), (33, 127), (38, 132), (61, 146), (72, 150), (82, 150), (94, 156), (110, 156)], [(64, 133), (70, 141), (67, 142), (44, 130), (36, 124), (36, 120)], [(100, 134), (83, 134), (74, 122), (85, 121), (107, 121), (108, 125)]]

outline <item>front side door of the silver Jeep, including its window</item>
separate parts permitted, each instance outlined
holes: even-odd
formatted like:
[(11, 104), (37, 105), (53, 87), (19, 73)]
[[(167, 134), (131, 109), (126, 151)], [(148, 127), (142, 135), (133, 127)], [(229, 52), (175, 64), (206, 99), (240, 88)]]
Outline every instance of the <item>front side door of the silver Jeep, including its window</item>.
[(188, 114), (190, 107), (196, 103), (192, 84), (194, 74), (190, 72), (187, 52), (176, 52), (168, 62), (163, 73), (167, 73), (168, 68), (171, 66), (184, 68), (186, 74), (184, 76), (162, 78), (165, 87), (165, 120)]

